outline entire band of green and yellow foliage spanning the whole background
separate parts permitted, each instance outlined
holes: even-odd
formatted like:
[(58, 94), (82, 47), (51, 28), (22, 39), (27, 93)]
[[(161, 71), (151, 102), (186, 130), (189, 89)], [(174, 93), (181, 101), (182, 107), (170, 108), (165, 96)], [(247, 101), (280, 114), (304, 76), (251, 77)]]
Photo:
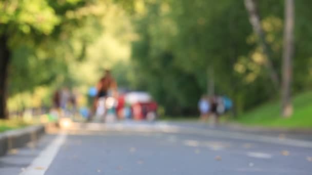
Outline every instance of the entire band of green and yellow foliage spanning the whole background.
[[(284, 1), (258, 2), (281, 74)], [(312, 87), (309, 5), (296, 1), (293, 93)], [(166, 114), (194, 115), (213, 68), (216, 94), (229, 96), (237, 113), (279, 97), (243, 1), (12, 0), (0, 9), (11, 96), (64, 83), (86, 91), (110, 68), (121, 86), (150, 92)]]

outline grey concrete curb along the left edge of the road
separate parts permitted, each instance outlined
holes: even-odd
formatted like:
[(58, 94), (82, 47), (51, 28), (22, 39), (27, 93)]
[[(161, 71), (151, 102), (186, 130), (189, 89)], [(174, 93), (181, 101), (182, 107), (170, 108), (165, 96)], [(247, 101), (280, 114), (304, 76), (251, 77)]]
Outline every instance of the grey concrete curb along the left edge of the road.
[(37, 141), (45, 134), (44, 125), (29, 126), (23, 129), (9, 130), (0, 134), (0, 156), (13, 148), (25, 146), (31, 141)]

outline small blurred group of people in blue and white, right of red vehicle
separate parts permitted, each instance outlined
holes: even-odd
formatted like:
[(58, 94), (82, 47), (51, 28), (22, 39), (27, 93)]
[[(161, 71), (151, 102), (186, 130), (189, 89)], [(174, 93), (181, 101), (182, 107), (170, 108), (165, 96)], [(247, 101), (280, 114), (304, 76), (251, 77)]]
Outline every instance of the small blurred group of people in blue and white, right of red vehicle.
[(219, 116), (223, 115), (232, 107), (232, 101), (225, 96), (207, 96), (203, 95), (198, 103), (200, 118), (207, 121), (218, 123)]

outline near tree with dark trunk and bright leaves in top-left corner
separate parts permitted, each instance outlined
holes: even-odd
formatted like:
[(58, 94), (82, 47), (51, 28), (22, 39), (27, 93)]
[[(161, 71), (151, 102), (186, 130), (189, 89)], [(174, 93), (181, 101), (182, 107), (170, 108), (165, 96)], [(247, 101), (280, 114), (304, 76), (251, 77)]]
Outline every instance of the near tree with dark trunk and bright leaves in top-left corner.
[[(59, 24), (59, 18), (46, 1), (2, 1), (0, 7), (0, 118), (8, 118), (7, 82), (12, 51), (9, 42), (23, 34), (29, 36), (38, 32), (40, 35), (47, 35)], [(32, 15), (36, 17), (31, 17)]]

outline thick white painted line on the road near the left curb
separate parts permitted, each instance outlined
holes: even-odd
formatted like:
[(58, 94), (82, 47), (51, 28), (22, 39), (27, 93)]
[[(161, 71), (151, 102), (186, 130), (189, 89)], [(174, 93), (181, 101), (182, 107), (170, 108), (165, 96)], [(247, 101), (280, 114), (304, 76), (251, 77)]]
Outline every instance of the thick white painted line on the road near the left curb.
[(66, 133), (59, 134), (20, 175), (44, 175), (65, 140)]

